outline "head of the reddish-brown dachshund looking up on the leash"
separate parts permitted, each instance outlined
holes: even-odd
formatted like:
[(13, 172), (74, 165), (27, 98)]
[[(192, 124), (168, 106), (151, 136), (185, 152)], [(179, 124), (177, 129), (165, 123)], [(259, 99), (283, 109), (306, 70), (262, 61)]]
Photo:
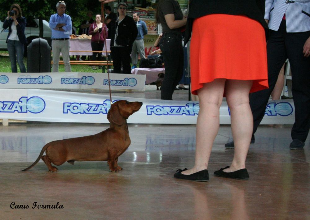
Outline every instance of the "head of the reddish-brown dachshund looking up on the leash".
[(126, 100), (119, 100), (111, 105), (108, 111), (108, 120), (110, 123), (123, 125), (133, 113), (139, 111), (142, 102), (128, 102)]

